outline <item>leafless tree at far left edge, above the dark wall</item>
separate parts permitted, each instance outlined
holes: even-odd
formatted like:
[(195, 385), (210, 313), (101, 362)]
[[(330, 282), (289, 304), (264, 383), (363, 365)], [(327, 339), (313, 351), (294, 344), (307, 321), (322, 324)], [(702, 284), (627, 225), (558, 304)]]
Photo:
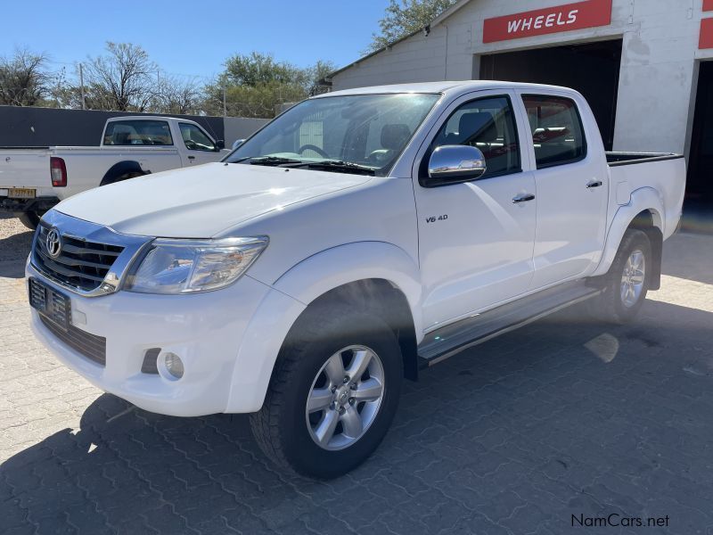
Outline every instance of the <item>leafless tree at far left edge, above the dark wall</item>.
[(49, 93), (50, 75), (44, 53), (18, 49), (11, 58), (0, 57), (0, 104), (34, 106)]

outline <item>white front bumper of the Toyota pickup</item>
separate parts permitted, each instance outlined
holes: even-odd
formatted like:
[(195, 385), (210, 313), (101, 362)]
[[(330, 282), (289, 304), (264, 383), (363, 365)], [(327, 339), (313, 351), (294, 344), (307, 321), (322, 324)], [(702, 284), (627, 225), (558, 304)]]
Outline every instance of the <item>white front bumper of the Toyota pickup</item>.
[[(237, 358), (248, 325), (263, 300), (276, 292), (266, 284), (242, 276), (237, 283), (216, 292), (116, 292), (82, 297), (53, 284), (29, 263), (27, 276), (70, 297), (72, 325), (106, 338), (106, 365), (102, 366), (61, 342), (32, 309), (32, 329), (37, 338), (61, 362), (102, 391), (170, 416), (250, 412), (262, 403), (265, 382), (261, 377), (242, 376), (239, 383), (245, 391), (240, 396), (231, 389), (234, 376), (240, 374)], [(170, 380), (160, 374), (142, 373), (144, 355), (152, 348), (160, 348), (161, 354), (178, 355), (184, 362), (184, 376)], [(229, 399), (245, 401), (228, 407)]]

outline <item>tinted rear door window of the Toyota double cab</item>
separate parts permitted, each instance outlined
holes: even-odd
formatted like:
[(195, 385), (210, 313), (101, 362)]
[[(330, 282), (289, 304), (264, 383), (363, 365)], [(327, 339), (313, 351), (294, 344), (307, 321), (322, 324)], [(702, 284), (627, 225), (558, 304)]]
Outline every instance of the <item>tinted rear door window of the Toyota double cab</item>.
[(561, 96), (523, 95), (537, 169), (578, 161), (586, 141), (577, 104)]

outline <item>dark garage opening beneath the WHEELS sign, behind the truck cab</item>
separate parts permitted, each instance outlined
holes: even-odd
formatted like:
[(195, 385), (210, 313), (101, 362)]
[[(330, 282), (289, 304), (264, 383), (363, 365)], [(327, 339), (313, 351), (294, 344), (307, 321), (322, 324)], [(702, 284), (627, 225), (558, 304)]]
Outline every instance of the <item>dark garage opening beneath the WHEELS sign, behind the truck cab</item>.
[(594, 111), (607, 151), (614, 143), (621, 39), (480, 57), (480, 79), (553, 84), (577, 89)]

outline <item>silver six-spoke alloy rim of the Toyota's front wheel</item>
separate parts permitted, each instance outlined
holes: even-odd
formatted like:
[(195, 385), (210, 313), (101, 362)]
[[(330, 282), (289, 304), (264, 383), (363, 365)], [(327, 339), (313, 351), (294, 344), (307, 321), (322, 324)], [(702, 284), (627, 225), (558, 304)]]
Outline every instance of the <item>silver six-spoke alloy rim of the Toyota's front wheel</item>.
[(384, 368), (376, 352), (351, 345), (317, 372), (305, 407), (307, 430), (322, 449), (345, 449), (373, 424), (384, 397)]

